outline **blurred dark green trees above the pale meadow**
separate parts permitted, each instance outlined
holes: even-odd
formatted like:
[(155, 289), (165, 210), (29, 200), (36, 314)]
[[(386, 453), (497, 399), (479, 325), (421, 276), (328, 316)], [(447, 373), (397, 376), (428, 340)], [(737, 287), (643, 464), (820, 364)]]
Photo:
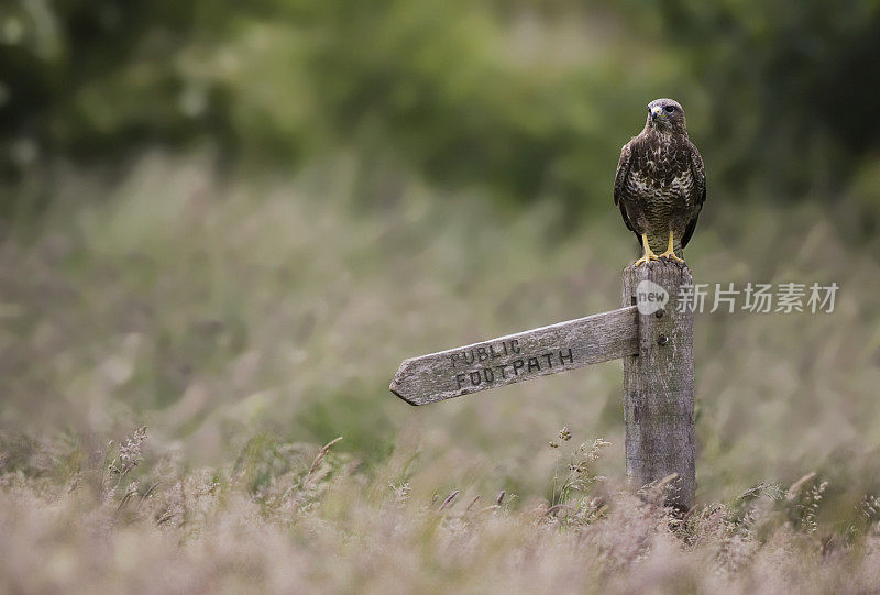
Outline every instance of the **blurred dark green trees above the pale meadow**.
[(832, 199), (879, 148), (878, 7), (11, 0), (0, 159), (15, 176), (208, 143), (301, 167), (343, 147), (440, 185), (604, 208), (639, 108), (675, 95), (714, 190)]

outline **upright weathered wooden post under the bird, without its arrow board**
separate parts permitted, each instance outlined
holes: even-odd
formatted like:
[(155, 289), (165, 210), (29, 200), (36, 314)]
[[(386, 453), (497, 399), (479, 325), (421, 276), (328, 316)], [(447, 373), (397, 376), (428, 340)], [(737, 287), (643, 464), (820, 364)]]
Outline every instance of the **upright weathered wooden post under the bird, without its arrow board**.
[(627, 481), (678, 474), (667, 504), (683, 510), (696, 489), (693, 311), (676, 302), (692, 284), (686, 265), (667, 260), (624, 271), (624, 306), (639, 306), (638, 354), (624, 356)]

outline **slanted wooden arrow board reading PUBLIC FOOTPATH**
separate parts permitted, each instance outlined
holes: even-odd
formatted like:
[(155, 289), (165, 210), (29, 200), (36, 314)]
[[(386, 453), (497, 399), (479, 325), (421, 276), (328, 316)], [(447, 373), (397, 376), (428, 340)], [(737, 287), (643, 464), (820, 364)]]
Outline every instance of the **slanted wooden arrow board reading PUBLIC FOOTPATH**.
[(637, 310), (619, 310), (499, 337), (400, 364), (391, 390), (425, 405), (638, 352)]

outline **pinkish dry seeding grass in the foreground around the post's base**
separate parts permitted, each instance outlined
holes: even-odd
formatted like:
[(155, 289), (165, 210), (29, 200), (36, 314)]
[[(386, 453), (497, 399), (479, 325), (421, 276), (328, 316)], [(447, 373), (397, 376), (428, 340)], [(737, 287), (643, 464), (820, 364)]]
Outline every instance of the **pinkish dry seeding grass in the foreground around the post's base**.
[[(817, 531), (826, 484), (814, 475), (790, 489), (759, 486), (701, 505), (682, 519), (658, 504), (661, 486), (637, 497), (591, 475), (588, 447), (560, 447), (560, 463), (590, 481), (566, 482), (550, 506), (469, 486), (442, 499), (431, 480), (406, 473), (395, 485), (386, 482), (400, 472), (395, 456), (365, 472), (336, 440), (323, 448), (257, 440), (234, 465), (187, 470), (173, 453), (146, 449), (139, 432), (100, 452), (69, 439), (3, 441), (7, 591), (867, 593), (880, 585), (876, 498), (845, 530)], [(572, 465), (569, 455), (590, 465)]]

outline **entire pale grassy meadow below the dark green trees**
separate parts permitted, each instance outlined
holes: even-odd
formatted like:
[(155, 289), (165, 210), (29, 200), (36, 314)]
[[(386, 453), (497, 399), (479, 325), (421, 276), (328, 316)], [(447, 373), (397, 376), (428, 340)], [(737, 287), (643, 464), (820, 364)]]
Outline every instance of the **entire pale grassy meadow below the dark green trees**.
[(876, 238), (815, 201), (707, 207), (697, 280), (840, 289), (832, 313), (697, 316), (680, 519), (663, 486), (624, 489), (619, 362), (421, 408), (387, 390), (406, 356), (617, 307), (636, 249), (610, 199), (572, 232), (553, 203), (499, 211), (402, 175), (365, 210), (362, 167), (245, 180), (155, 152), (110, 181), (56, 172), (52, 205), (19, 213), (0, 251), (6, 588), (880, 584)]

